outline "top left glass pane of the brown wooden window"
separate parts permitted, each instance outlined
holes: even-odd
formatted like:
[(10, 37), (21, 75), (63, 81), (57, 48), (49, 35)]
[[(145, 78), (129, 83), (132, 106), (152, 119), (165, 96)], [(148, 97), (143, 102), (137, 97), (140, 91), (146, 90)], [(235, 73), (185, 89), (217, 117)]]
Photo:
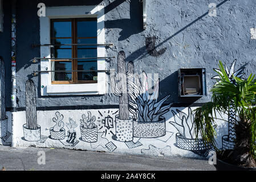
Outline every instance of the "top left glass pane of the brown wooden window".
[(53, 22), (52, 36), (54, 38), (70, 38), (72, 36), (71, 22)]

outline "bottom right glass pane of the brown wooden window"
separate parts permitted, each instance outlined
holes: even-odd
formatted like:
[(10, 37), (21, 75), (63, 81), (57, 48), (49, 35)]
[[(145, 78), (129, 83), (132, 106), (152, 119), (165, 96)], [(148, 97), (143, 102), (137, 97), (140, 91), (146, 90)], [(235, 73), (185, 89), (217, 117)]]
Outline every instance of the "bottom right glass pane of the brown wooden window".
[[(78, 70), (97, 70), (97, 61), (78, 61)], [(78, 72), (78, 81), (97, 81), (97, 72)]]

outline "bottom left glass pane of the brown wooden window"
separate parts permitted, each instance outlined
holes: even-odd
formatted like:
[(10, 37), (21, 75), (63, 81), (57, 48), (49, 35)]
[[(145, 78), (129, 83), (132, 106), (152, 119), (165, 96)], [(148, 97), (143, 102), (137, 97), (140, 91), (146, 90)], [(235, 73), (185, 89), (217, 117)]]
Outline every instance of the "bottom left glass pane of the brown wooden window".
[[(70, 71), (72, 70), (71, 61), (51, 61), (52, 71)], [(72, 81), (72, 72), (52, 72), (52, 81)]]

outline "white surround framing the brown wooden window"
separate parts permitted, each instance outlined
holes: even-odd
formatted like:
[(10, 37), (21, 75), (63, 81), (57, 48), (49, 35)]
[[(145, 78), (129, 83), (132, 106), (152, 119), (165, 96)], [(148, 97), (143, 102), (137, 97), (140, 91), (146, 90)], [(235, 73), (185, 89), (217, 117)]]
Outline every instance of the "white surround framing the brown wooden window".
[[(46, 7), (40, 17), (40, 44), (50, 44), (50, 19), (97, 18), (97, 44), (105, 44), (104, 6)], [(50, 46), (40, 48), (40, 57), (51, 57)], [(105, 57), (105, 47), (97, 47), (97, 57)], [(51, 70), (51, 60), (41, 60), (41, 71)], [(105, 59), (97, 60), (97, 69), (105, 70)], [(51, 73), (41, 73), (41, 96), (92, 95), (106, 93), (106, 73), (99, 72), (97, 84), (51, 84)]]

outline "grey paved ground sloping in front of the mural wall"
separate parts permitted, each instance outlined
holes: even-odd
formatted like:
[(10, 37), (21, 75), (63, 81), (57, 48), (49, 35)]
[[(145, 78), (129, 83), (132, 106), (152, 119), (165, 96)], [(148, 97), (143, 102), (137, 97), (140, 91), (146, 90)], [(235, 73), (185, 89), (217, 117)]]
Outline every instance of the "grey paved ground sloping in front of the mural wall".
[[(46, 154), (46, 164), (38, 164), (38, 152)], [(57, 148), (10, 148), (0, 146), (0, 168), (7, 171), (215, 171), (208, 160)]]

